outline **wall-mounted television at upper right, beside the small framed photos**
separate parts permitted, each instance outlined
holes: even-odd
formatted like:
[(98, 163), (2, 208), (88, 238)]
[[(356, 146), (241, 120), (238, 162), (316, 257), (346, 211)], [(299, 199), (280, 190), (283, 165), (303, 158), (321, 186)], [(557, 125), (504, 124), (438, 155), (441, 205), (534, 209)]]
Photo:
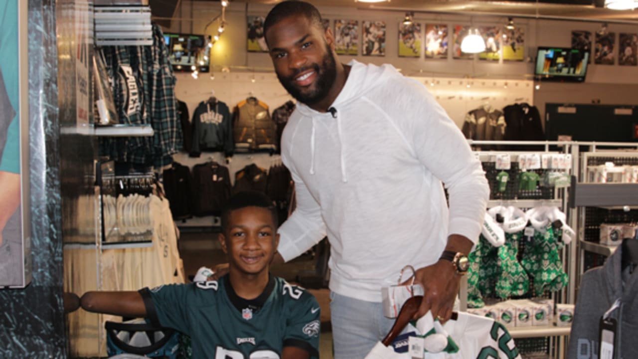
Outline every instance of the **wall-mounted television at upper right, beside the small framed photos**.
[(583, 82), (590, 52), (566, 47), (538, 47), (534, 74), (541, 80)]

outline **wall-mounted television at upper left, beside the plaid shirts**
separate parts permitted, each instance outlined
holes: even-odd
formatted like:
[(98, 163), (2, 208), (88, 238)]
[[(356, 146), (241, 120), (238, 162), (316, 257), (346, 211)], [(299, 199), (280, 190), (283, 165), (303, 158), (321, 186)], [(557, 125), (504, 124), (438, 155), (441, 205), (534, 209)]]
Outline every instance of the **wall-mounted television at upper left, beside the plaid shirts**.
[(209, 72), (211, 36), (164, 33), (168, 59), (176, 72)]

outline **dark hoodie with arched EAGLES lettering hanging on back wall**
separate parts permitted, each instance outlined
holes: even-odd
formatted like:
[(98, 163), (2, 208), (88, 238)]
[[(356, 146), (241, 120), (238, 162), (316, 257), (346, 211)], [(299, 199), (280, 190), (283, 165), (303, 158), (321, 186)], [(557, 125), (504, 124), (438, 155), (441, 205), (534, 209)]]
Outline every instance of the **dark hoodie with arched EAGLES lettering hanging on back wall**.
[(226, 157), (233, 153), (232, 119), (226, 103), (217, 99), (202, 101), (193, 112), (193, 148), (191, 157), (202, 151), (223, 151)]

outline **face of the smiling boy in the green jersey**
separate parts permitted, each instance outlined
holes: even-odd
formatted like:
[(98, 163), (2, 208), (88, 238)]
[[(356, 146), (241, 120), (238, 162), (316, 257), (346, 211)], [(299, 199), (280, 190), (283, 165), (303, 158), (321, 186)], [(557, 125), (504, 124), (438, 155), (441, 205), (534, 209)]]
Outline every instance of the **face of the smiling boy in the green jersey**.
[(245, 207), (228, 215), (228, 228), (219, 236), (230, 270), (245, 274), (267, 272), (279, 244), (279, 234), (267, 208)]

